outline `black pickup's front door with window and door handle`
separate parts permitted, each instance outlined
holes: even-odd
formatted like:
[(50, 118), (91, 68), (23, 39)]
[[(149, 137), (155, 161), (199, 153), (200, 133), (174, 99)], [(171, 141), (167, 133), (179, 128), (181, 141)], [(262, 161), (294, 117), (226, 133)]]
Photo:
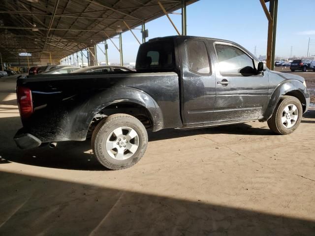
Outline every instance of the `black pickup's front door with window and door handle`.
[(214, 43), (216, 100), (212, 120), (237, 122), (262, 118), (268, 104), (268, 72), (254, 73), (258, 61), (231, 43)]

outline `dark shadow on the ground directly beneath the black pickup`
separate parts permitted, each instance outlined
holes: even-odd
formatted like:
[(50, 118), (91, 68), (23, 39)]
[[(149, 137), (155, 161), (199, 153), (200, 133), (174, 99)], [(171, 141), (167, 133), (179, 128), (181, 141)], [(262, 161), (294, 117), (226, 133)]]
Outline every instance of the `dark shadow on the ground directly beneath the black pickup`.
[[(11, 125), (10, 125), (11, 124)], [(15, 125), (14, 125), (15, 124)], [(91, 150), (91, 140), (84, 142), (59, 142), (57, 148), (43, 145), (30, 150), (20, 150), (16, 147), (13, 137), (20, 124), (19, 117), (0, 118), (1, 132), (0, 156), (1, 163), (17, 162), (33, 166), (42, 166), (58, 169), (103, 171), (107, 170), (98, 163)], [(21, 124), (20, 124), (21, 125)], [(11, 129), (8, 127), (12, 127)], [(176, 130), (167, 129), (158, 132), (149, 132), (149, 142), (187, 137), (203, 134), (234, 134), (234, 135), (273, 135), (267, 128), (252, 128), (249, 124), (237, 124), (204, 129)], [(2, 137), (1, 137), (2, 136)]]

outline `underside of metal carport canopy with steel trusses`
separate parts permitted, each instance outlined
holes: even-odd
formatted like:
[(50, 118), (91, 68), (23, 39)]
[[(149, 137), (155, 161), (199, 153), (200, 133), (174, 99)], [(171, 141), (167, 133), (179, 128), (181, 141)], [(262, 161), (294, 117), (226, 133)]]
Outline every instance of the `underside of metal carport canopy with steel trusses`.
[[(198, 0), (186, 0), (189, 5)], [(18, 53), (54, 60), (95, 45), (164, 13), (158, 0), (1, 0), (0, 52), (6, 61)], [(160, 0), (167, 12), (182, 0)], [(104, 33), (105, 32), (105, 33)], [(175, 31), (174, 31), (175, 32)]]

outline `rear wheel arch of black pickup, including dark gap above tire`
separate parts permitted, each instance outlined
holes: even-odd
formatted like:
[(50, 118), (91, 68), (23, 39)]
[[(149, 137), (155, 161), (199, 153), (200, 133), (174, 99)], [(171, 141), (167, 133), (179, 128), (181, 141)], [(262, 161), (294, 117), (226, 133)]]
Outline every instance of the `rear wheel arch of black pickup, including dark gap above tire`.
[[(114, 112), (116, 107), (119, 109)], [(164, 127), (162, 111), (149, 94), (135, 88), (120, 87), (100, 91), (85, 101), (72, 114), (70, 140), (85, 140), (95, 118), (124, 113), (124, 109), (126, 114), (132, 115), (128, 112), (130, 108), (133, 111), (135, 108), (142, 109), (147, 115), (153, 131), (158, 131)]]

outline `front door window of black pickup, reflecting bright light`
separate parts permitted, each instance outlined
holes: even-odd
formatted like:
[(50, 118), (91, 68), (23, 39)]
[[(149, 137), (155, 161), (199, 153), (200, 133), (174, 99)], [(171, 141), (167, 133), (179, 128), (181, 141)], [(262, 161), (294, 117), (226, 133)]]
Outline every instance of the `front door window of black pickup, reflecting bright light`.
[(221, 74), (239, 74), (244, 67), (254, 68), (253, 60), (242, 50), (227, 46), (215, 45)]

